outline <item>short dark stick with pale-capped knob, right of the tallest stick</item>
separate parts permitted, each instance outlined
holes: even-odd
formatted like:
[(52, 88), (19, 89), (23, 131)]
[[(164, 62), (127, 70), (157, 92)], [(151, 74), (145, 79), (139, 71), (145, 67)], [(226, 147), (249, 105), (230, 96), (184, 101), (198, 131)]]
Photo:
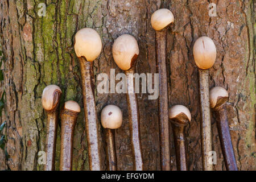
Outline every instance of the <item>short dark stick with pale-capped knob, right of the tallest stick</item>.
[(191, 121), (191, 113), (187, 107), (175, 105), (169, 109), (169, 118), (174, 131), (177, 170), (187, 171), (187, 146), (184, 128)]

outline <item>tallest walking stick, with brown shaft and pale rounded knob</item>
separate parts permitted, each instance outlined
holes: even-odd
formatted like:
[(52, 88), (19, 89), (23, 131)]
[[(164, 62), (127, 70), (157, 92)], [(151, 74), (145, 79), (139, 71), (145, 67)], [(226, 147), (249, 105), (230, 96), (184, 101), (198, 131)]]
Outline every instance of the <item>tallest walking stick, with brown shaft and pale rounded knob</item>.
[(170, 170), (166, 34), (168, 26), (173, 22), (174, 15), (168, 9), (159, 9), (151, 16), (151, 25), (155, 29), (156, 68), (159, 73), (158, 117), (160, 134), (160, 164), (163, 171)]

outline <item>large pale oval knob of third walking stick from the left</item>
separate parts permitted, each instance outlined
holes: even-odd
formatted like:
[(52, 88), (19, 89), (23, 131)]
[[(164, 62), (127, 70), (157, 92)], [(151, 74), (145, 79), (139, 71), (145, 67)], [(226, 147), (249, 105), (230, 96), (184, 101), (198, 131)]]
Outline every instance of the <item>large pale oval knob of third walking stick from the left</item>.
[(87, 61), (94, 61), (101, 53), (100, 35), (92, 28), (82, 28), (76, 32), (74, 48), (77, 57), (85, 57)]

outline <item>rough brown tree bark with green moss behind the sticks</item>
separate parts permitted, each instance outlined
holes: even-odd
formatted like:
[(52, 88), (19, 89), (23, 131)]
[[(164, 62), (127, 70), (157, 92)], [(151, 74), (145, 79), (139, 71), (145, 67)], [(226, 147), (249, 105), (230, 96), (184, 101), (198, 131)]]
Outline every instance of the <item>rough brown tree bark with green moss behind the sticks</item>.
[[(39, 3), (45, 3), (46, 16), (40, 17)], [(210, 17), (209, 3), (215, 3), (217, 16)], [(217, 48), (217, 59), (210, 69), (210, 88), (228, 89), (228, 119), (238, 169), (255, 170), (255, 1), (135, 1), (135, 0), (2, 0), (0, 2), (0, 44), (3, 51), (6, 93), (1, 122), (6, 121), (5, 151), (0, 151), (0, 169), (42, 170), (38, 152), (45, 150), (46, 113), (41, 96), (46, 85), (63, 90), (61, 104), (75, 100), (82, 106), (80, 67), (73, 49), (73, 36), (82, 27), (92, 27), (104, 44), (94, 61), (95, 79), (99, 73), (122, 72), (112, 57), (113, 40), (128, 33), (138, 40), (138, 73), (156, 73), (155, 31), (151, 14), (160, 7), (175, 16), (167, 34), (169, 105), (182, 104), (191, 110), (188, 136), (188, 167), (201, 170), (200, 119), (197, 68), (193, 43), (209, 36)], [(96, 82), (97, 84), (97, 82)], [(96, 87), (97, 89), (97, 87)], [(170, 92), (171, 91), (171, 92)], [(123, 111), (123, 125), (116, 131), (118, 169), (133, 169), (125, 94), (98, 94), (98, 118), (107, 104)], [(138, 94), (141, 139), (145, 169), (160, 169), (157, 100)], [(81, 108), (83, 111), (83, 109)], [(79, 114), (74, 136), (73, 169), (88, 170), (84, 113)], [(100, 122), (100, 121), (99, 121)], [(101, 126), (101, 125), (99, 125)], [(170, 126), (171, 127), (171, 126)], [(105, 158), (102, 127), (102, 158)], [(172, 131), (172, 129), (170, 129)], [(212, 119), (214, 169), (225, 169), (216, 122)], [(171, 168), (176, 169), (172, 132)], [(59, 169), (60, 122), (57, 134), (56, 169)], [(105, 167), (106, 168), (106, 167)]]

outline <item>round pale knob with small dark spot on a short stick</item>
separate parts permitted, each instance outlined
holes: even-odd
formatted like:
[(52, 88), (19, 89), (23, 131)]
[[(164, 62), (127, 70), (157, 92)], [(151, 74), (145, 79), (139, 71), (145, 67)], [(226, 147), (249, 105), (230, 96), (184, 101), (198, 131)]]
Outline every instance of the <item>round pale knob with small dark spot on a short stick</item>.
[(101, 124), (105, 129), (118, 129), (123, 122), (122, 111), (118, 106), (107, 105), (101, 111)]

